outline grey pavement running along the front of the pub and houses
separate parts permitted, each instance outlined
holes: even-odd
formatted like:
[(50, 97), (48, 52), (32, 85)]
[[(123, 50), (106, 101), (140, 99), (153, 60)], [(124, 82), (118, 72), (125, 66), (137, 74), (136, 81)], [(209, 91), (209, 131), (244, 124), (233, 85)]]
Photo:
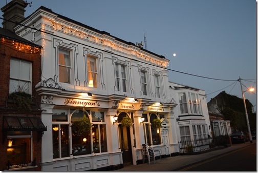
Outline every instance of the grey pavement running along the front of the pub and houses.
[(206, 151), (199, 153), (197, 155), (179, 155), (174, 157), (166, 157), (157, 159), (154, 162), (138, 164), (138, 165), (128, 165), (121, 169), (115, 171), (177, 171), (183, 170), (188, 166), (198, 164), (222, 155), (226, 155), (229, 152), (248, 147), (250, 145), (256, 145), (256, 140), (252, 140), (246, 143), (235, 143), (229, 147), (220, 147), (218, 149)]

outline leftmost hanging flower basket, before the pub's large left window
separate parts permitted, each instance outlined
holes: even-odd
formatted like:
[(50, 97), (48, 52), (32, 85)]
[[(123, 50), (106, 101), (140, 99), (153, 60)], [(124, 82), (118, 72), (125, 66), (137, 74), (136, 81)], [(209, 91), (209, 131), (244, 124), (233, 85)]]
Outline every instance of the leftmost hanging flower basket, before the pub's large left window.
[(73, 134), (76, 136), (80, 136), (82, 133), (90, 132), (92, 128), (92, 124), (89, 118), (83, 116), (83, 118), (79, 121), (73, 122), (72, 130)]

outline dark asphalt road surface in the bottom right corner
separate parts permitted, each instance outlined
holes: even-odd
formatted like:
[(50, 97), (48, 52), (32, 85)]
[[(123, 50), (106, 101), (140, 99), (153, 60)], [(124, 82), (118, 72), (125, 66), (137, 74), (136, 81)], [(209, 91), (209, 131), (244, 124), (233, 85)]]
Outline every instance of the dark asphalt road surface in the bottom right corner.
[(256, 171), (256, 145), (249, 145), (181, 171)]

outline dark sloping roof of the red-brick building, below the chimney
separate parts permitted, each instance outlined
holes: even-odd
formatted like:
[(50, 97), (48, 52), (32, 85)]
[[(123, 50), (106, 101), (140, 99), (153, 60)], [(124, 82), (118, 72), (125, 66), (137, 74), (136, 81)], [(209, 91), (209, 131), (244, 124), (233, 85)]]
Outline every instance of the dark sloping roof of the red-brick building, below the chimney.
[(15, 40), (17, 42), (22, 42), (22, 43), (30, 44), (30, 45), (33, 45), (33, 46), (41, 47), (40, 45), (37, 45), (33, 42), (30, 42), (30, 41), (24, 39), (23, 37), (18, 36), (14, 32), (12, 32), (8, 29), (1, 28), (1, 27), (0, 27), (0, 37), (5, 37), (7, 39)]

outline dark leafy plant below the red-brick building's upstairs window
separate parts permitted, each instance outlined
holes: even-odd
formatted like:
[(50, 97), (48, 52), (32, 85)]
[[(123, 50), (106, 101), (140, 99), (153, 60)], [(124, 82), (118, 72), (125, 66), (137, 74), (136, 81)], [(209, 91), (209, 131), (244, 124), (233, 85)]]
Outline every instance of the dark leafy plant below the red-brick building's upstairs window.
[(25, 92), (24, 86), (18, 86), (17, 90), (10, 93), (9, 97), (13, 100), (19, 111), (31, 111), (32, 95)]

